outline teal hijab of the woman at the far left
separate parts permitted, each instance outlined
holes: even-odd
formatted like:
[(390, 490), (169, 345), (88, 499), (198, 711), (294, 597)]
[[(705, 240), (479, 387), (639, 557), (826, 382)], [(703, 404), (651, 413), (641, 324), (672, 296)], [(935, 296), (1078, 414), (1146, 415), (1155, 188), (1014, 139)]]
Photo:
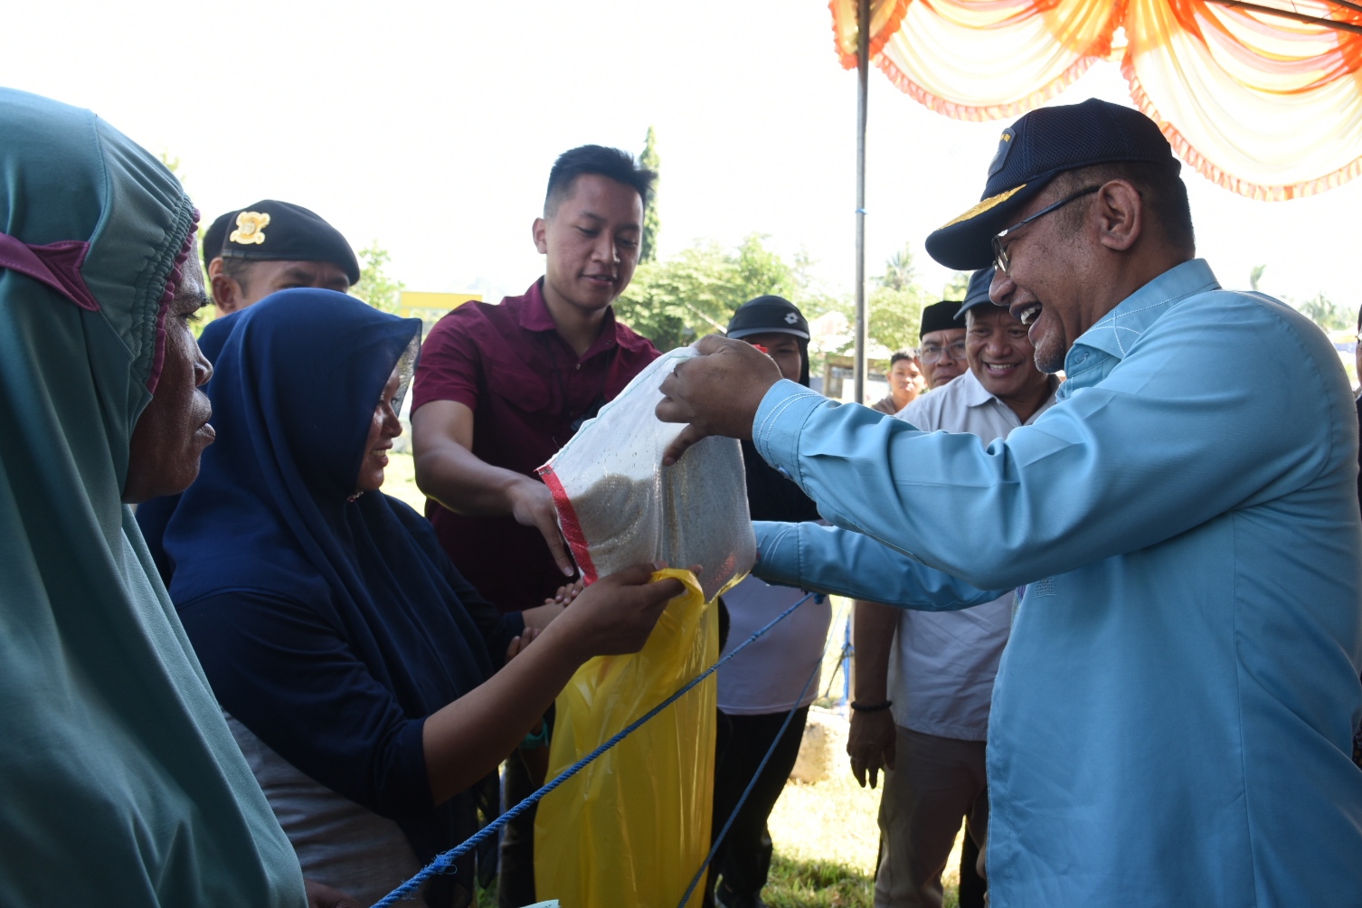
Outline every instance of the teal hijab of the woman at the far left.
[(302, 908), (120, 504), (193, 207), (89, 112), (0, 88), (0, 233), (87, 242), (95, 304), (0, 268), (0, 904)]

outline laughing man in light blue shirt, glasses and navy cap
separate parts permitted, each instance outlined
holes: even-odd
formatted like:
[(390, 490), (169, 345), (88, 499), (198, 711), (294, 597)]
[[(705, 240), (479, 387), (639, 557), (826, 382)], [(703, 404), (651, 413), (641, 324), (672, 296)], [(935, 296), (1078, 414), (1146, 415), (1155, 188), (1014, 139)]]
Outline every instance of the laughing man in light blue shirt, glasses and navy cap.
[(1068, 374), (1034, 425), (922, 433), (706, 339), (663, 385), (659, 418), (691, 423), (669, 457), (752, 437), (817, 501), (835, 527), (759, 525), (768, 581), (910, 607), (1026, 584), (989, 727), (994, 908), (1362, 904), (1358, 423), (1332, 344), (1220, 289), (1167, 142), (1100, 101), (1007, 129), (928, 250), (992, 259), (993, 301)]

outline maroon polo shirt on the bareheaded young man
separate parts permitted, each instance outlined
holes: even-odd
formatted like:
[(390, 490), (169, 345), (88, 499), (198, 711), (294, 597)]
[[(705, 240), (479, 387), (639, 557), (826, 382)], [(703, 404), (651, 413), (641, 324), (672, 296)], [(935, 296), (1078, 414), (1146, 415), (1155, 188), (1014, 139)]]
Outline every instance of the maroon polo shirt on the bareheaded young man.
[[(473, 410), (473, 453), (527, 476), (656, 359), (656, 348), (605, 313), (601, 336), (577, 357), (543, 302), (542, 280), (501, 305), (466, 302), (436, 324), (421, 350), (413, 412), (432, 400)], [(466, 517), (426, 502), (426, 516), (464, 577), (501, 611), (543, 603), (563, 572), (534, 527), (513, 517)]]

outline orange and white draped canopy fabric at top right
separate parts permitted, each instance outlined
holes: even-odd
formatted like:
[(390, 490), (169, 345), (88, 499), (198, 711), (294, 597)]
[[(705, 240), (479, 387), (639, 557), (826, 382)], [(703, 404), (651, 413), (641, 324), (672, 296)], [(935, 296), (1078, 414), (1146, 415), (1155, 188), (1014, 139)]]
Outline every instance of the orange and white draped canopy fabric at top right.
[[(854, 68), (857, 0), (828, 5), (842, 65)], [(1362, 25), (1347, 5), (1284, 8)], [(1227, 189), (1294, 199), (1362, 173), (1352, 31), (1207, 0), (872, 0), (870, 60), (962, 120), (1017, 117), (1110, 60), (1177, 154)]]

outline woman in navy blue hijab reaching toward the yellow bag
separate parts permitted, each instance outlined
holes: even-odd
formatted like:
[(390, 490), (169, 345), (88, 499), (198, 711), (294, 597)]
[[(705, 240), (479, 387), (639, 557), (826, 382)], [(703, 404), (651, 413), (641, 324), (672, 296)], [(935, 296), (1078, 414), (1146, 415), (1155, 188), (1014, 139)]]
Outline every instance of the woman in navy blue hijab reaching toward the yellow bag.
[[(651, 565), (602, 579), (533, 647), (533, 617), (498, 617), (379, 491), (419, 331), (328, 290), (242, 312), (208, 385), (218, 444), (165, 536), (172, 599), (304, 871), (365, 904), (475, 832), (479, 783), (572, 672), (642, 648), (681, 592)], [(467, 904), (473, 871), (426, 904)]]

